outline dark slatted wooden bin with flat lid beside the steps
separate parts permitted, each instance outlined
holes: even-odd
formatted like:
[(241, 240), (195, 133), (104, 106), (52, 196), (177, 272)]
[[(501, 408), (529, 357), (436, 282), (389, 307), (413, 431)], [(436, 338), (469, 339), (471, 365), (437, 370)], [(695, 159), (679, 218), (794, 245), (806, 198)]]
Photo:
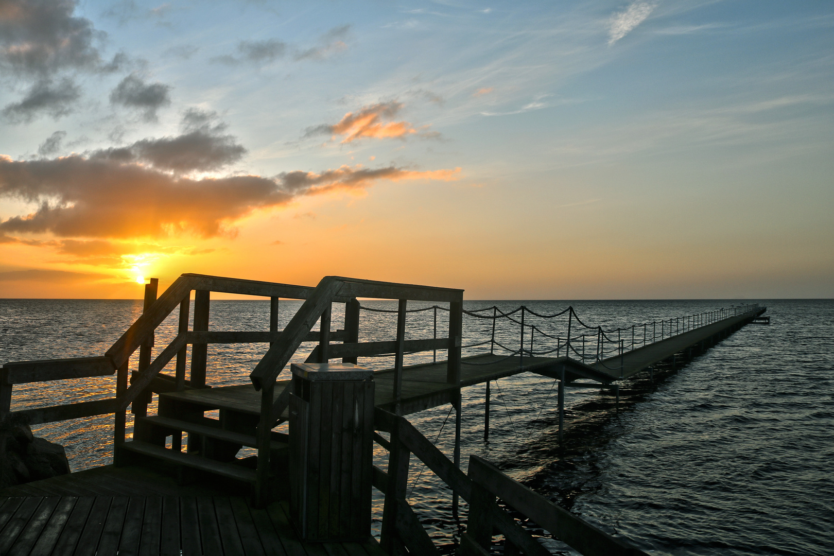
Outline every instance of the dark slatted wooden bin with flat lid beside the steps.
[(374, 373), (294, 363), (289, 396), (290, 513), (306, 540), (370, 534)]

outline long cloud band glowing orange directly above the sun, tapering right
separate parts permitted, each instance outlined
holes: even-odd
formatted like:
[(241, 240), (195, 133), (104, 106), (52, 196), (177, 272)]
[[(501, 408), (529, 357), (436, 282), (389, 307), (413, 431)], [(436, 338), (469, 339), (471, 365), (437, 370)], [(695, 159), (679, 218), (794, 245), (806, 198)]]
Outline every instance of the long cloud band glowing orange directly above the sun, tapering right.
[(304, 195), (369, 188), (380, 179), (453, 180), (460, 168), (417, 172), (394, 166), (183, 178), (136, 163), (71, 155), (55, 159), (0, 157), (0, 198), (38, 203), (33, 213), (0, 222), (0, 233), (52, 233), (58, 238), (147, 238), (193, 233), (234, 235), (254, 211)]

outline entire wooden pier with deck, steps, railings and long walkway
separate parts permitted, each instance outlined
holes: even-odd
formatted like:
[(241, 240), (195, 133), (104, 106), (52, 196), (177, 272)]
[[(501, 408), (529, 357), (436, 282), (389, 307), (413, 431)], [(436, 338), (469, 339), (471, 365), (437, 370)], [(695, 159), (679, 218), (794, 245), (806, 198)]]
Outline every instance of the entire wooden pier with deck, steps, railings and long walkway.
[[(270, 298), (269, 331), (209, 331), (210, 292)], [(280, 331), (279, 298), (304, 299)], [(359, 342), (362, 307), (357, 298), (399, 300), (394, 341)], [(442, 307), (449, 311), (445, 337), (406, 340), (407, 300), (448, 304)], [(343, 329), (332, 329), (333, 303), (345, 304)], [(177, 309), (177, 336), (154, 351), (155, 329)], [(5, 497), (0, 502), (0, 553), (437, 553), (405, 500), (409, 454), (450, 486), (455, 512), (458, 497), (470, 503), (459, 553), (486, 553), (495, 533), (524, 553), (546, 553), (495, 503), (496, 497), (580, 553), (642, 553), (479, 458), (470, 458), (469, 473), (460, 471), (461, 389), (487, 385), (488, 433), (490, 381), (525, 372), (558, 379), (561, 441), (566, 387), (618, 393), (617, 381), (651, 373), (661, 361), (691, 358), (766, 309), (744, 306), (669, 319), (660, 323), (660, 331), (652, 323), (651, 334), (648, 325), (607, 331), (589, 327), (569, 309), (537, 315), (524, 307), (510, 313), (493, 308), (490, 352), (464, 356), (463, 319), (490, 316), (465, 311), (459, 289), (340, 277), (326, 277), (309, 288), (183, 274), (157, 298), (153, 280), (146, 286), (143, 315), (103, 356), (3, 366), (4, 426), (113, 413), (115, 427), (114, 465), (0, 491)], [(531, 320), (563, 313), (568, 318), (564, 337), (544, 332)], [(520, 324), (519, 348), (496, 342), (499, 318)], [(314, 331), (316, 323), (319, 330)], [(534, 333), (550, 344), (536, 351)], [(294, 365), (292, 380), (279, 380), (305, 342), (316, 344), (309, 365)], [(206, 366), (212, 343), (269, 343), (270, 348), (249, 375), (252, 384), (212, 388)], [(504, 352), (495, 353), (496, 346)], [(436, 350), (445, 351), (446, 358), (404, 364), (406, 353)], [(358, 358), (386, 353), (394, 356), (394, 368), (369, 373), (355, 367)], [(132, 366), (134, 354), (138, 358)], [(173, 373), (164, 373), (169, 367)], [(116, 378), (115, 398), (10, 411), (14, 384), (108, 375)], [(158, 413), (148, 415), (154, 395)], [(451, 460), (404, 418), (445, 404), (456, 409)], [(125, 434), (128, 408), (134, 416), (132, 438)], [(205, 416), (213, 410), (219, 410), (219, 418)], [(273, 430), (288, 420), (289, 436)], [(299, 435), (308, 440), (300, 441)], [(371, 438), (389, 452), (385, 470), (370, 463)], [(243, 446), (256, 448), (258, 456), (236, 458)], [(288, 476), (294, 477), (292, 493)], [(381, 545), (369, 535), (371, 484), (385, 494)], [(345, 520), (352, 520), (350, 527)]]

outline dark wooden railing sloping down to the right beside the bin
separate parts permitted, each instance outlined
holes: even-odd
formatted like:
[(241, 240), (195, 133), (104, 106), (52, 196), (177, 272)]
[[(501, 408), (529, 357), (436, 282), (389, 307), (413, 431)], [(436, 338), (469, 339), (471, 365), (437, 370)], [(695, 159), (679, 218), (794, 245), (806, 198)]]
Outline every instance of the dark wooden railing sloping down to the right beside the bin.
[[(504, 535), (506, 544), (515, 545), (525, 554), (550, 554), (496, 502), (496, 497), (586, 556), (645, 554), (624, 539), (612, 537), (534, 493), (482, 458), (470, 456), (469, 471), (464, 473), (407, 419), (379, 408), (374, 418), (375, 428), (390, 435), (390, 439), (379, 433), (375, 435), (377, 443), (388, 450), (389, 463), (387, 471), (374, 466), (373, 478), (374, 487), (385, 495), (381, 543), (387, 552), (404, 553), (402, 548), (405, 548), (408, 553), (440, 554), (408, 503), (409, 457), (414, 454), (455, 495), (470, 504), (466, 531), (460, 539), (460, 554), (487, 554), (496, 533)], [(506, 544), (505, 553), (510, 553)]]

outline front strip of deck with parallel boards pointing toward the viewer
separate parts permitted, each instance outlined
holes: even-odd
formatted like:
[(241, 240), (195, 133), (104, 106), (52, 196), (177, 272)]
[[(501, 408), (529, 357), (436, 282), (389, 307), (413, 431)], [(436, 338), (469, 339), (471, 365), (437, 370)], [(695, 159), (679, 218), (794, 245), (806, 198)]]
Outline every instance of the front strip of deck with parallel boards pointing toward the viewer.
[(305, 543), (284, 507), (229, 496), (0, 498), (0, 553), (379, 556), (374, 538)]

